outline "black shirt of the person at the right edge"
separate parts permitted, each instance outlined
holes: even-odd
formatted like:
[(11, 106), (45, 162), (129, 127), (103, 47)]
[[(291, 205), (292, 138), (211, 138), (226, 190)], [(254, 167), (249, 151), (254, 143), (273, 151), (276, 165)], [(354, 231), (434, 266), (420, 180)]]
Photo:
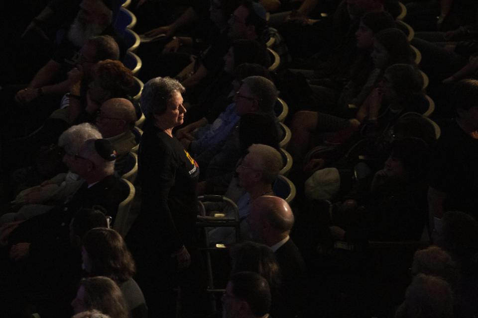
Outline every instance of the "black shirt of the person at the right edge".
[(447, 193), (445, 211), (477, 217), (478, 139), (463, 131), (455, 120), (445, 122), (441, 129), (430, 166), (430, 186)]

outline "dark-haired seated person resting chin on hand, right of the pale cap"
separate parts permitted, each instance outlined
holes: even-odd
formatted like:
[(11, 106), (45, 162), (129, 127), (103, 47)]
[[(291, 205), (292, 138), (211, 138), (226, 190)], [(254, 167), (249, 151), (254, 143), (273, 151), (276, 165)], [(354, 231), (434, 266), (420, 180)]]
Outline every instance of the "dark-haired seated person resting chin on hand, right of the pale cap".
[(423, 140), (395, 141), (384, 168), (375, 173), (370, 198), (360, 207), (357, 201), (348, 201), (332, 215), (332, 236), (350, 241), (420, 239), (426, 220), (428, 153)]

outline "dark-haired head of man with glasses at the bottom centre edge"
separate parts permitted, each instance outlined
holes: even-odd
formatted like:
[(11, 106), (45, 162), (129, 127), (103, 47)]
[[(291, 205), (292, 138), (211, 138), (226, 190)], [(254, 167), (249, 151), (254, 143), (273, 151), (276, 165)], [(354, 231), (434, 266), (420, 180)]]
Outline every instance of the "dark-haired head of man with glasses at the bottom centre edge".
[(267, 318), (271, 304), (269, 284), (257, 273), (238, 272), (223, 294), (223, 318)]

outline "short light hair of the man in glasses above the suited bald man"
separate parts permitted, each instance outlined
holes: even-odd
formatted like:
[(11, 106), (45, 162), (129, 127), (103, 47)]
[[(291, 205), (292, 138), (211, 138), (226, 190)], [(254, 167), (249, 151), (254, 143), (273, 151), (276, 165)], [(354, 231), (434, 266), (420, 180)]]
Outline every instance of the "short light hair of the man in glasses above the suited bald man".
[(280, 153), (273, 147), (262, 144), (253, 144), (247, 150), (249, 155), (256, 158), (258, 166), (254, 168), (262, 171), (262, 180), (265, 183), (274, 182), (283, 166)]

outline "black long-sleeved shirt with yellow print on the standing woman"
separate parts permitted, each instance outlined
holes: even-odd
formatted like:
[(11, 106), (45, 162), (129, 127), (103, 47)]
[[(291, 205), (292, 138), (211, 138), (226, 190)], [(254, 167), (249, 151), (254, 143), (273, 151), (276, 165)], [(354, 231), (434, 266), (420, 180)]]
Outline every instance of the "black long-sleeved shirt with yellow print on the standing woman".
[(165, 252), (188, 245), (197, 215), (196, 161), (176, 138), (156, 127), (147, 127), (139, 144), (138, 177), (141, 214), (133, 234)]

